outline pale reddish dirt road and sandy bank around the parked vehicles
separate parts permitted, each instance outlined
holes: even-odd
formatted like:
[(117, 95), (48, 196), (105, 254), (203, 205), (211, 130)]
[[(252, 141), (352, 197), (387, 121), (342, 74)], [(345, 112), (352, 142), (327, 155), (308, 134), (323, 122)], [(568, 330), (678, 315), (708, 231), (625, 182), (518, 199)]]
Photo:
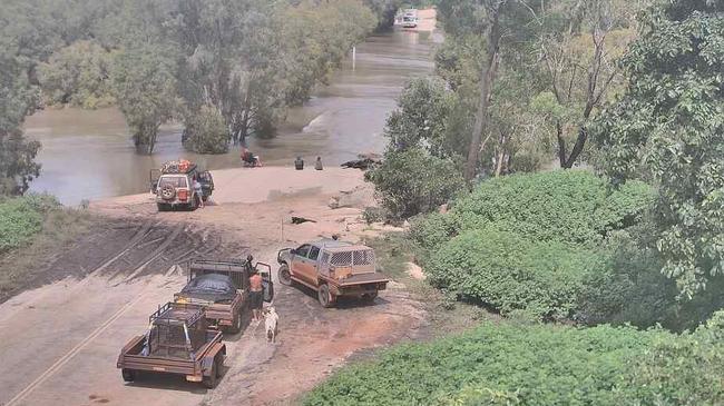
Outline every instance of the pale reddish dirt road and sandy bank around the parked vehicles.
[[(227, 370), (216, 389), (174, 376), (125, 384), (115, 366), (118, 351), (185, 283), (174, 264), (196, 255), (252, 252), (275, 265), (282, 247), (334, 232), (352, 240), (369, 232), (360, 214), (372, 194), (359, 171), (256, 168), (214, 175), (212, 205), (193, 212), (158, 214), (148, 195), (91, 205), (126, 227), (104, 232), (105, 241), (88, 239), (56, 264), (90, 275), (0, 305), (0, 404), (286, 404), (355, 351), (415, 337), (424, 313), (398, 284), (374, 305), (350, 301), (336, 309), (321, 308), (310, 291), (276, 284), (277, 343), (266, 343), (258, 325), (225, 337)], [(327, 206), (333, 197), (342, 207)], [(292, 225), (291, 216), (315, 222)]]

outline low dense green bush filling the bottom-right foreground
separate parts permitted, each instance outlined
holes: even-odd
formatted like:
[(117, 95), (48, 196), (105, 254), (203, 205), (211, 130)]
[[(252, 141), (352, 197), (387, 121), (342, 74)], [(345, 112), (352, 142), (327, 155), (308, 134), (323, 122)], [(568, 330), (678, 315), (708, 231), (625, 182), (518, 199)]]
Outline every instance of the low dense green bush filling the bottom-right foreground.
[[(722, 316), (694, 334), (483, 324), (348, 366), (305, 405), (715, 405)], [(705, 376), (704, 376), (705, 375)]]

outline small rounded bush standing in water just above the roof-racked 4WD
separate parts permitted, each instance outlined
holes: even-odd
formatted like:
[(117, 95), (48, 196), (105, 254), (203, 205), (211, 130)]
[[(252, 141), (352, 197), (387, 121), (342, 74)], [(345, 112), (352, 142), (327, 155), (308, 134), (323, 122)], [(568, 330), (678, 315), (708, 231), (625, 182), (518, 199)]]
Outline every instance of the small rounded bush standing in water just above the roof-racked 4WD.
[(187, 118), (184, 146), (197, 154), (225, 154), (228, 151), (228, 130), (224, 117), (211, 106)]

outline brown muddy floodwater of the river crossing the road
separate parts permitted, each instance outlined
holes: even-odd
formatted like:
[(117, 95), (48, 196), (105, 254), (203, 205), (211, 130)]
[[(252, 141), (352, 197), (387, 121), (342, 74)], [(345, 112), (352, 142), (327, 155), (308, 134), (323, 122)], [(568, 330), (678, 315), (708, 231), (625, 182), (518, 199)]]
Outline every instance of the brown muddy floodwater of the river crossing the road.
[[(394, 31), (373, 36), (356, 47), (329, 86), (320, 86), (304, 106), (288, 111), (275, 138), (251, 138), (250, 148), (264, 165), (292, 165), (302, 156), (313, 164), (339, 165), (360, 152), (381, 152), (384, 121), (395, 107), (403, 83), (429, 75), (437, 33)], [(148, 172), (169, 159), (187, 158), (208, 169), (239, 167), (238, 148), (200, 156), (185, 151), (180, 127), (162, 127), (153, 156), (135, 152), (123, 115), (100, 110), (45, 110), (29, 117), (26, 135), (42, 142), (41, 176), (33, 191), (56, 195), (66, 205), (82, 199), (139, 194), (148, 190)]]

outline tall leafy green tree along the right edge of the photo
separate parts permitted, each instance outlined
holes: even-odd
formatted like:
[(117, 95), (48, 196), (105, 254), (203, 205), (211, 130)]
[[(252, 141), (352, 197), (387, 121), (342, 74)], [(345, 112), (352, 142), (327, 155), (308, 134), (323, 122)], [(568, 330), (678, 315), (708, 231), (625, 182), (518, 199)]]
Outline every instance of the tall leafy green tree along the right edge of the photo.
[(622, 60), (629, 86), (595, 131), (615, 182), (657, 187), (655, 246), (689, 298), (724, 274), (723, 7), (673, 1), (649, 13)]

